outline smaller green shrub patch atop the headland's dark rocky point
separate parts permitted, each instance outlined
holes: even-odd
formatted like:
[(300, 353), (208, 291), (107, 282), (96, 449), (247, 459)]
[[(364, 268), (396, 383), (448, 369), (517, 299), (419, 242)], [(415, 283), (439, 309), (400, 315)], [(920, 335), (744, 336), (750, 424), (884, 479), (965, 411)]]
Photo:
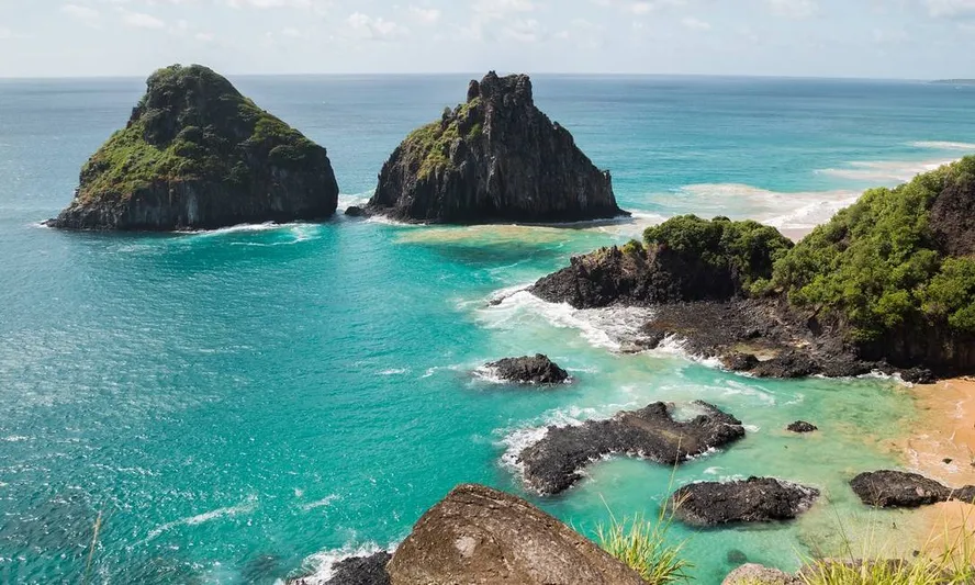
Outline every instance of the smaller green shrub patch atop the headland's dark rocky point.
[(643, 240), (648, 247), (664, 246), (715, 269), (729, 270), (749, 292), (767, 288), (774, 262), (793, 247), (777, 229), (758, 222), (732, 222), (727, 217), (707, 221), (695, 215), (672, 217), (649, 227)]

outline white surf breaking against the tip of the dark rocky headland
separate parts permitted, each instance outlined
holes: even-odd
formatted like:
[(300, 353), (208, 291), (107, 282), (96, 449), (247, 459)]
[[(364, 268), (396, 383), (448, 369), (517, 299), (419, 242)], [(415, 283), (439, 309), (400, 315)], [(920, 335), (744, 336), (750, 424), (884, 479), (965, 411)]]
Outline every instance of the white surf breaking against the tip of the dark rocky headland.
[(595, 347), (624, 351), (632, 349), (631, 344), (641, 337), (640, 328), (653, 316), (642, 307), (573, 308), (568, 303), (548, 303), (523, 289), (480, 312), (486, 327), (519, 329), (540, 318), (553, 327), (578, 329)]

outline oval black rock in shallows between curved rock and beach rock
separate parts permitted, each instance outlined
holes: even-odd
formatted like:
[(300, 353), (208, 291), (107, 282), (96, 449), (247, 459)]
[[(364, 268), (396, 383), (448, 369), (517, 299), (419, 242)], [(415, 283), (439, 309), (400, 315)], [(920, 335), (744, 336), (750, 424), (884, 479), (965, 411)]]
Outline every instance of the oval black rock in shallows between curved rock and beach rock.
[(819, 491), (770, 477), (741, 482), (702, 482), (671, 496), (674, 515), (692, 526), (792, 520), (819, 497)]

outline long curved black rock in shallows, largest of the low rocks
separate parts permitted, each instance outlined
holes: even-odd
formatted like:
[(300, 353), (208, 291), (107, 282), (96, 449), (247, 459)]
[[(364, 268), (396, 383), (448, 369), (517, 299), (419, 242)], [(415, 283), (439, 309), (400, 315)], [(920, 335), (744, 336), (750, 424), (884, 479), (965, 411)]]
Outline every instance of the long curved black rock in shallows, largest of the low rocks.
[(525, 480), (541, 494), (558, 494), (582, 477), (582, 468), (607, 454), (627, 454), (673, 465), (744, 437), (741, 421), (704, 402), (703, 414), (675, 420), (671, 407), (654, 403), (608, 420), (549, 427), (546, 436), (518, 455)]

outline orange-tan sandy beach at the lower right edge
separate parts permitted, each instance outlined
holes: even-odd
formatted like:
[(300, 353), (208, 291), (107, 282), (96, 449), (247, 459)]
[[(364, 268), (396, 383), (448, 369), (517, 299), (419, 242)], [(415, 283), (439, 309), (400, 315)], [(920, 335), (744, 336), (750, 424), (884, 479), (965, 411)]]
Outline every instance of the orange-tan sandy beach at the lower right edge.
[[(912, 390), (918, 417), (903, 454), (906, 465), (950, 487), (975, 485), (975, 379), (943, 380)], [(918, 543), (937, 554), (975, 533), (975, 506), (946, 502), (915, 513)]]

